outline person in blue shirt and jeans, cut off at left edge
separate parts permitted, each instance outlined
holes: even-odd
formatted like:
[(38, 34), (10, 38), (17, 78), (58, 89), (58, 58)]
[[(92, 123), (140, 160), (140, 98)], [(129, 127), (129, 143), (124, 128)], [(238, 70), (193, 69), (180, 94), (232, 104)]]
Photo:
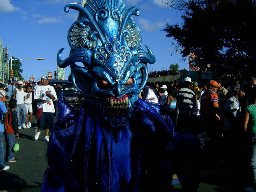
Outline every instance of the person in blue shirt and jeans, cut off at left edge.
[(5, 164), (4, 160), (4, 123), (8, 112), (4, 105), (4, 102), (0, 101), (0, 171), (8, 170), (10, 167)]

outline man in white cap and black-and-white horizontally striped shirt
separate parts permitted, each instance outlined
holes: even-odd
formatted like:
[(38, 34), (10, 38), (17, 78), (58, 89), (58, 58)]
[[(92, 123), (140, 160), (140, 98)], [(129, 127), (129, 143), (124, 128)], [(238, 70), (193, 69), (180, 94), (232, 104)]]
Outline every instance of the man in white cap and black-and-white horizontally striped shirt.
[(193, 127), (191, 122), (194, 106), (196, 104), (195, 93), (192, 90), (193, 82), (190, 77), (184, 79), (184, 88), (181, 88), (176, 95), (176, 112), (179, 109), (177, 119), (177, 132), (191, 133)]

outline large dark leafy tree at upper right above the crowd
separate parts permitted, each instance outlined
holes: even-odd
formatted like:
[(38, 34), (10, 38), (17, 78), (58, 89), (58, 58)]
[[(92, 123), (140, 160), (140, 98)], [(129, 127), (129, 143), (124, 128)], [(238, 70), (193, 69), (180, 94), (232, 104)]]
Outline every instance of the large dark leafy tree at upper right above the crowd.
[(255, 0), (172, 0), (183, 24), (166, 25), (176, 50), (194, 53), (195, 66), (212, 64), (218, 74), (255, 74)]

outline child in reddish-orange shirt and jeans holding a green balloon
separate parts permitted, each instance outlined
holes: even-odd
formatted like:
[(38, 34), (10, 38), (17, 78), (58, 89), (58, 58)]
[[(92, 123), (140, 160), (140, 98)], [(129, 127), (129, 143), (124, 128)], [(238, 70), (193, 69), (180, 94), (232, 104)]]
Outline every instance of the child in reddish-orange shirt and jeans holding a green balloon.
[(18, 160), (14, 157), (14, 152), (12, 148), (15, 144), (15, 136), (19, 137), (18, 125), (17, 125), (17, 115), (15, 112), (15, 108), (17, 106), (16, 99), (9, 100), (9, 110), (6, 122), (4, 123), (5, 128), (5, 136), (6, 136), (6, 158), (7, 161), (17, 162)]

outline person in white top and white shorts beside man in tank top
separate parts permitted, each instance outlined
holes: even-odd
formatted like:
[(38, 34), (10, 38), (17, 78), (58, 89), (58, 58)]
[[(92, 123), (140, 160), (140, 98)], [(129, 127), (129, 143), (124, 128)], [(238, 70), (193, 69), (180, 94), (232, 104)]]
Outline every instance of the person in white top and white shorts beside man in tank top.
[[(26, 92), (24, 92), (24, 104), (27, 108), (27, 115), (26, 115), (26, 127), (31, 127), (31, 119), (33, 116), (33, 108), (32, 108), (32, 87), (30, 84), (26, 87)], [(29, 119), (28, 119), (28, 113), (29, 113)]]

